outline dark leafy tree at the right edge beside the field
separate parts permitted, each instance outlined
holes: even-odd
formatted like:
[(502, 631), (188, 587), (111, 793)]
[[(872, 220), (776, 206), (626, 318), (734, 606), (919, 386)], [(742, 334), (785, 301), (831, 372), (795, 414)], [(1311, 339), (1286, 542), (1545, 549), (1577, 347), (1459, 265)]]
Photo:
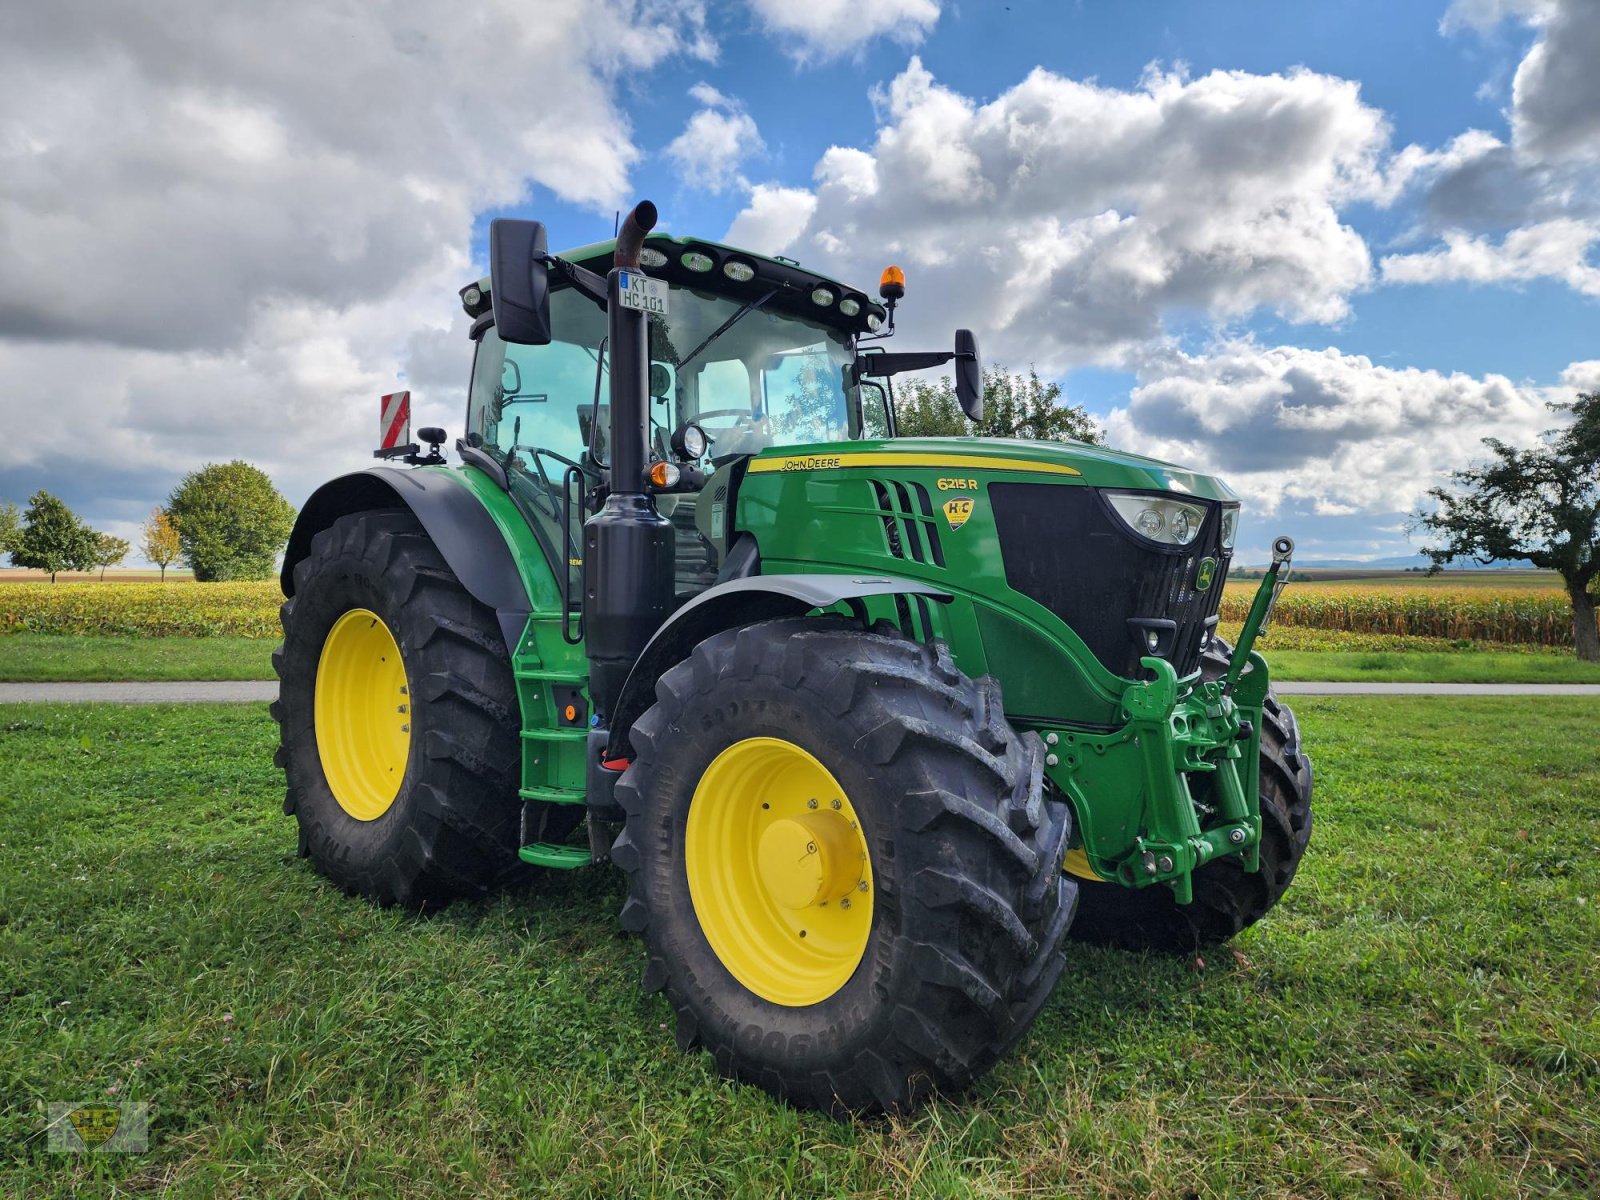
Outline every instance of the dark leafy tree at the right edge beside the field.
[(1573, 602), (1573, 642), (1578, 658), (1600, 662), (1595, 597), (1589, 587), (1600, 574), (1600, 392), (1570, 405), (1573, 424), (1544, 435), (1544, 445), (1517, 450), (1486, 437), (1490, 462), (1456, 470), (1456, 490), (1430, 488), (1434, 512), (1414, 520), (1442, 534), (1443, 546), (1424, 547), (1438, 571), (1454, 558), (1491, 563), (1526, 558), (1557, 571)]

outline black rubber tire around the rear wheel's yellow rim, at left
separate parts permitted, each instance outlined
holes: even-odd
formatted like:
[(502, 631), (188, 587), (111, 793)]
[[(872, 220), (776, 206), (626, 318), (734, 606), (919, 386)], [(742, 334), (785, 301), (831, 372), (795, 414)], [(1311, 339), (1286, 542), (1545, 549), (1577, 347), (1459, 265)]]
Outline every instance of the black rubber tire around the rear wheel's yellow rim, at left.
[[(394, 803), (357, 821), (323, 774), (315, 683), (323, 643), (352, 608), (382, 618), (405, 664), (411, 741)], [(494, 613), (461, 586), (406, 510), (358, 512), (318, 533), (282, 608), (277, 763), (299, 853), (349, 893), (437, 907), (518, 869), (520, 714)]]

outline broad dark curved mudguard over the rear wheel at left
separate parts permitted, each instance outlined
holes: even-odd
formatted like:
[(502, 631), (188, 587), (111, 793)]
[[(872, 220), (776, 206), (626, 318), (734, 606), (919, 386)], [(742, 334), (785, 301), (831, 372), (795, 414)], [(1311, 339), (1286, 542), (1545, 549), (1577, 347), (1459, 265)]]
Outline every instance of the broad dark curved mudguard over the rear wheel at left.
[(499, 618), (506, 653), (528, 622), (531, 605), (510, 547), (494, 518), (448, 470), (370, 467), (323, 483), (294, 522), (283, 554), (283, 595), (294, 595), (294, 565), (310, 552), (310, 539), (339, 517), (368, 509), (410, 509), (461, 586)]

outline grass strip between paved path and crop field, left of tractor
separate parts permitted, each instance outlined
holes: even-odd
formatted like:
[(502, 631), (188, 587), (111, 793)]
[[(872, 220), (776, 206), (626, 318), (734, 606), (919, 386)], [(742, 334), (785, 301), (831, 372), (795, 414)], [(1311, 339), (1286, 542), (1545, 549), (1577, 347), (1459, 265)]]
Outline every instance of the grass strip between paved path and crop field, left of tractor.
[(250, 637), (0, 635), (0, 680), (274, 678), (277, 642)]

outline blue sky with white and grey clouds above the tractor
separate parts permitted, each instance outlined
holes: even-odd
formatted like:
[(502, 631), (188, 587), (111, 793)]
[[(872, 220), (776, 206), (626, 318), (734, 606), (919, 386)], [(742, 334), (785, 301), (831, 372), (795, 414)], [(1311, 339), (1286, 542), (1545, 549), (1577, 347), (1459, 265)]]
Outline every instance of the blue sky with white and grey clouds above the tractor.
[[(301, 504), (378, 397), (459, 434), (488, 221), (662, 224), (974, 330), (1240, 557), (1406, 515), (1600, 390), (1600, 0), (146, 0), (0, 10), (0, 501), (138, 542), (243, 458)], [(136, 562), (136, 557), (130, 562)]]

